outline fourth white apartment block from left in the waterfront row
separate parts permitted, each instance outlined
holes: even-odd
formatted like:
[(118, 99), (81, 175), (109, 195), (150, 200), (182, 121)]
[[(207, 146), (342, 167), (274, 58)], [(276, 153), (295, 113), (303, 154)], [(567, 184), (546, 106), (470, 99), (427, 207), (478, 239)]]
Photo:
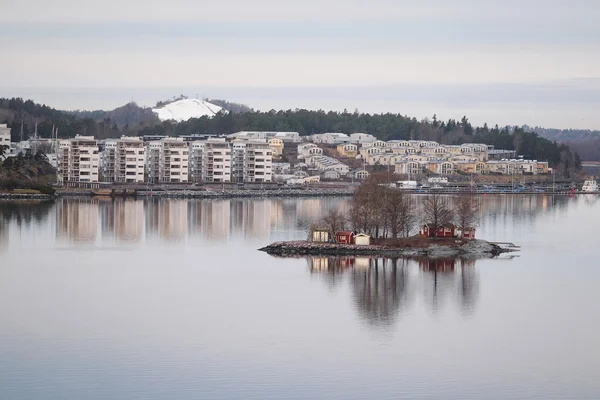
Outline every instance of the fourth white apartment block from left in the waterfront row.
[(211, 138), (190, 143), (190, 180), (231, 182), (231, 145), (225, 139)]

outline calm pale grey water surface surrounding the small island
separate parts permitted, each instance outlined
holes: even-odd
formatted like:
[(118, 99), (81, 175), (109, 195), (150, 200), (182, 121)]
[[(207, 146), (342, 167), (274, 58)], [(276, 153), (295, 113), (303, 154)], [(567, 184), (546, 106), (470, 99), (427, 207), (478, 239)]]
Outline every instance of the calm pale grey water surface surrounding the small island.
[(346, 199), (0, 204), (0, 399), (600, 398), (600, 199), (488, 260), (279, 259)]

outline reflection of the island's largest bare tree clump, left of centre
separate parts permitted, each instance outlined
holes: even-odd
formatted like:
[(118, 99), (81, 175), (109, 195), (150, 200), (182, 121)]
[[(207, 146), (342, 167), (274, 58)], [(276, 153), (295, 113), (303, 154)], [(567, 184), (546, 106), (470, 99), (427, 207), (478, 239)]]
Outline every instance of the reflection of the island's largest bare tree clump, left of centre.
[(352, 293), (361, 317), (373, 326), (392, 325), (406, 303), (406, 259), (367, 259), (352, 270)]

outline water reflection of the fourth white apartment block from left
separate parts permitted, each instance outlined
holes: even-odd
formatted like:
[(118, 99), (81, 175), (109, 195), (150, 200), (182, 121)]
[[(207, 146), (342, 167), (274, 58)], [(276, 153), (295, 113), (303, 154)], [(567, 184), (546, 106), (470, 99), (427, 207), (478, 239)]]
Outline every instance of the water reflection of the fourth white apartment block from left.
[(189, 213), (191, 234), (215, 240), (228, 238), (231, 200), (190, 201)]

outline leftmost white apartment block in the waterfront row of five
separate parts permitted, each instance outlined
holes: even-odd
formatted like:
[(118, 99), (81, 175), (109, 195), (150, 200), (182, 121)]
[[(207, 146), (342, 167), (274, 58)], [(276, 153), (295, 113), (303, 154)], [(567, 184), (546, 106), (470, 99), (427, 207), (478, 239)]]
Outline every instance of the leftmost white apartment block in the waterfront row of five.
[(100, 155), (93, 136), (61, 140), (58, 147), (58, 183), (71, 185), (98, 182)]

